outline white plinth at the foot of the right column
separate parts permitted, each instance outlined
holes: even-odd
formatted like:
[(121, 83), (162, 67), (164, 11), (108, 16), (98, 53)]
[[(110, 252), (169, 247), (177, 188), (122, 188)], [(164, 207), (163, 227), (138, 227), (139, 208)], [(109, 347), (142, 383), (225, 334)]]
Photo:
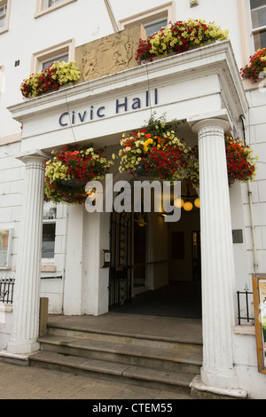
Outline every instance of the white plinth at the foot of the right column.
[(206, 385), (201, 381), (200, 375), (195, 376), (191, 383), (192, 398), (201, 399), (247, 399), (245, 389), (227, 389)]

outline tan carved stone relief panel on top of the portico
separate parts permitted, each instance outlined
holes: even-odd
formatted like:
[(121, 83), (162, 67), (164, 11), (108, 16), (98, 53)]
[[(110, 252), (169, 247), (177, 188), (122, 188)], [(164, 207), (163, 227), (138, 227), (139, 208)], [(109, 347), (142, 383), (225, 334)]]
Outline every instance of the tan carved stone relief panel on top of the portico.
[(75, 59), (82, 72), (80, 82), (136, 67), (137, 41), (142, 35), (138, 26), (77, 47)]

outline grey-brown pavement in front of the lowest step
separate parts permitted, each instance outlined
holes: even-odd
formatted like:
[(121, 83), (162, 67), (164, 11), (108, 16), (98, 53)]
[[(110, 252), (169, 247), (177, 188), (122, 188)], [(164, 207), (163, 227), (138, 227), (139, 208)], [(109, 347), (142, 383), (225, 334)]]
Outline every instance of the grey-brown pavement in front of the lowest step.
[(14, 365), (0, 358), (0, 399), (171, 401), (192, 397), (174, 391)]

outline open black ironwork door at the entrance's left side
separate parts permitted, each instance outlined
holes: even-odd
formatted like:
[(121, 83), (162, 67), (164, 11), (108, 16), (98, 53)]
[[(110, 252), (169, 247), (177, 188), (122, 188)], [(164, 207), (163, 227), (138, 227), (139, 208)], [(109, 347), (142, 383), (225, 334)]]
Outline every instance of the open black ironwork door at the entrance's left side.
[(132, 281), (132, 214), (111, 213), (109, 274), (109, 309), (131, 300)]

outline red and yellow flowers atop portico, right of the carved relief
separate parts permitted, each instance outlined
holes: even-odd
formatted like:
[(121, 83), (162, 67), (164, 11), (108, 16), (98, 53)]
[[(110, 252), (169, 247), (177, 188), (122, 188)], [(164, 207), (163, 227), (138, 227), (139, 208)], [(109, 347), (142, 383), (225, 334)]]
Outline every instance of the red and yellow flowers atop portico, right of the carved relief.
[(155, 57), (176, 55), (214, 41), (224, 41), (228, 39), (228, 34), (228, 30), (223, 31), (215, 23), (206, 23), (205, 20), (170, 22), (159, 32), (139, 40), (136, 60), (153, 61)]

